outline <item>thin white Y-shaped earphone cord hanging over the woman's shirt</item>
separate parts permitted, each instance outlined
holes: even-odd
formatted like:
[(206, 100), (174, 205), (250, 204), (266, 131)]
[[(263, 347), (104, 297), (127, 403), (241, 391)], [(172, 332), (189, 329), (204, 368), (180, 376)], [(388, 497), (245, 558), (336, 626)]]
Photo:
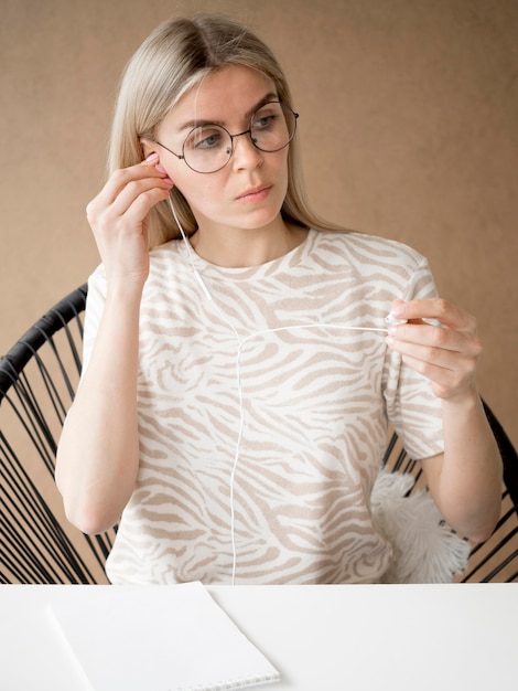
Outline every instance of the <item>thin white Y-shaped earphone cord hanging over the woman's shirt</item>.
[(274, 333), (274, 332), (280, 332), (280, 331), (292, 331), (292, 330), (296, 330), (296, 329), (319, 329), (322, 327), (328, 328), (328, 329), (335, 329), (335, 330), (344, 330), (344, 331), (374, 331), (374, 332), (379, 332), (379, 333), (388, 333), (389, 328), (391, 328), (392, 326), (398, 326), (401, 323), (406, 323), (407, 320), (404, 319), (397, 319), (396, 317), (393, 317), (393, 315), (389, 313), (387, 315), (387, 317), (385, 318), (386, 321), (386, 327), (353, 327), (353, 326), (348, 326), (348, 325), (328, 325), (328, 323), (313, 323), (313, 325), (292, 325), (292, 326), (287, 326), (287, 327), (277, 327), (274, 329), (266, 329), (266, 330), (261, 330), (261, 331), (255, 331), (249, 333), (246, 337), (241, 337), (239, 334), (239, 332), (237, 331), (236, 327), (233, 325), (233, 322), (230, 321), (230, 319), (228, 318), (228, 316), (225, 313), (225, 311), (219, 307), (219, 305), (217, 304), (217, 301), (214, 299), (208, 286), (206, 285), (205, 280), (203, 279), (202, 275), (199, 274), (199, 272), (197, 270), (195, 263), (194, 263), (194, 252), (193, 248), (191, 246), (191, 243), (187, 240), (187, 236), (182, 227), (182, 224), (180, 223), (180, 219), (177, 217), (176, 214), (176, 210), (174, 209), (174, 204), (173, 201), (171, 199), (171, 196), (169, 196), (169, 203), (171, 206), (171, 211), (173, 213), (173, 217), (176, 222), (176, 225), (180, 230), (180, 233), (182, 235), (182, 240), (185, 244), (186, 251), (187, 251), (187, 257), (188, 257), (188, 263), (192, 269), (192, 273), (194, 275), (195, 280), (198, 283), (198, 285), (201, 286), (205, 297), (211, 301), (211, 304), (213, 305), (214, 309), (219, 313), (219, 316), (222, 317), (222, 319), (228, 325), (229, 329), (231, 330), (231, 332), (234, 333), (234, 336), (236, 337), (237, 340), (237, 351), (236, 351), (236, 383), (237, 383), (237, 392), (238, 392), (238, 403), (239, 403), (239, 427), (238, 427), (238, 435), (237, 435), (237, 440), (236, 440), (236, 448), (235, 448), (235, 453), (234, 453), (234, 461), (233, 461), (233, 466), (231, 466), (231, 470), (230, 470), (230, 477), (229, 477), (229, 502), (230, 502), (230, 541), (231, 541), (231, 552), (233, 552), (233, 566), (231, 566), (231, 585), (235, 585), (236, 583), (236, 571), (237, 571), (237, 546), (236, 546), (236, 535), (235, 535), (235, 529), (236, 529), (236, 524), (235, 524), (235, 507), (234, 507), (234, 489), (235, 489), (235, 477), (236, 477), (236, 472), (237, 472), (237, 468), (238, 468), (238, 464), (239, 464), (239, 456), (240, 456), (240, 450), (241, 450), (241, 442), (242, 442), (242, 434), (244, 434), (244, 429), (245, 429), (245, 401), (244, 401), (244, 392), (242, 392), (242, 385), (241, 385), (241, 355), (242, 355), (242, 349), (244, 346), (249, 342), (251, 339), (253, 338), (259, 338), (261, 336), (265, 336), (267, 333)]

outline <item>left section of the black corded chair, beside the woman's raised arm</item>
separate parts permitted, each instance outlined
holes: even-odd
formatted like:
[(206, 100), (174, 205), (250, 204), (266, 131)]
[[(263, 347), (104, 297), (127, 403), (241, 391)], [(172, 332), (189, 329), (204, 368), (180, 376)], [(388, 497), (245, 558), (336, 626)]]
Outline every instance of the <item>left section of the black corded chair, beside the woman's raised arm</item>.
[(86, 294), (85, 285), (61, 300), (0, 360), (0, 583), (104, 581), (115, 532), (73, 529), (54, 486), (58, 435), (80, 374)]

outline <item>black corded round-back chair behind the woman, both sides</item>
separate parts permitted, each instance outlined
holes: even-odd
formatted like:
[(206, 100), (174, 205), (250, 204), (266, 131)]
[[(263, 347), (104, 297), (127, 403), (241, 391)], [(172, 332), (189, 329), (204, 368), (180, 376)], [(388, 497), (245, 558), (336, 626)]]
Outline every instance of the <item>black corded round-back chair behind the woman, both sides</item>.
[[(116, 530), (90, 538), (63, 514), (54, 482), (60, 432), (82, 368), (82, 286), (44, 315), (0, 360), (0, 583), (107, 583), (104, 571)], [(518, 459), (486, 406), (505, 463), (501, 519), (493, 536), (473, 548), (463, 582), (518, 582)], [(384, 458), (411, 472), (396, 435)]]

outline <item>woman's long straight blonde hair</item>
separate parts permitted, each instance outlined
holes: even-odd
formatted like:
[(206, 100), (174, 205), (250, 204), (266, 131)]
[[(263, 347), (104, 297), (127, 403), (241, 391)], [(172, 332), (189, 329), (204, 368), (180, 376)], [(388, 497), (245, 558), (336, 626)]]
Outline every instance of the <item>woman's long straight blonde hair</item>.
[[(201, 14), (164, 22), (129, 61), (119, 89), (111, 130), (109, 170), (142, 160), (141, 139), (157, 138), (164, 117), (204, 77), (228, 65), (242, 65), (270, 78), (279, 99), (293, 107), (290, 89), (270, 49), (238, 22), (220, 15)], [(304, 193), (296, 137), (288, 155), (288, 192), (281, 209), (288, 223), (319, 230), (337, 230), (319, 219)], [(173, 188), (172, 199), (187, 235), (197, 224), (183, 194)], [(150, 248), (180, 236), (168, 201), (150, 212)]]

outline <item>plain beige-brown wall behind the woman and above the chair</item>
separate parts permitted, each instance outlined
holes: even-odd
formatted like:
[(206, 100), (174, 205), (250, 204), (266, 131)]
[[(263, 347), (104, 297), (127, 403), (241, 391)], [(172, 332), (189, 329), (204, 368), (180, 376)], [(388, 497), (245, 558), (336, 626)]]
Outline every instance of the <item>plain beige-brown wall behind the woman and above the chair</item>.
[(0, 352), (97, 264), (114, 94), (160, 21), (219, 10), (278, 53), (331, 220), (413, 245), (477, 315), (483, 394), (518, 443), (518, 2), (0, 0)]

